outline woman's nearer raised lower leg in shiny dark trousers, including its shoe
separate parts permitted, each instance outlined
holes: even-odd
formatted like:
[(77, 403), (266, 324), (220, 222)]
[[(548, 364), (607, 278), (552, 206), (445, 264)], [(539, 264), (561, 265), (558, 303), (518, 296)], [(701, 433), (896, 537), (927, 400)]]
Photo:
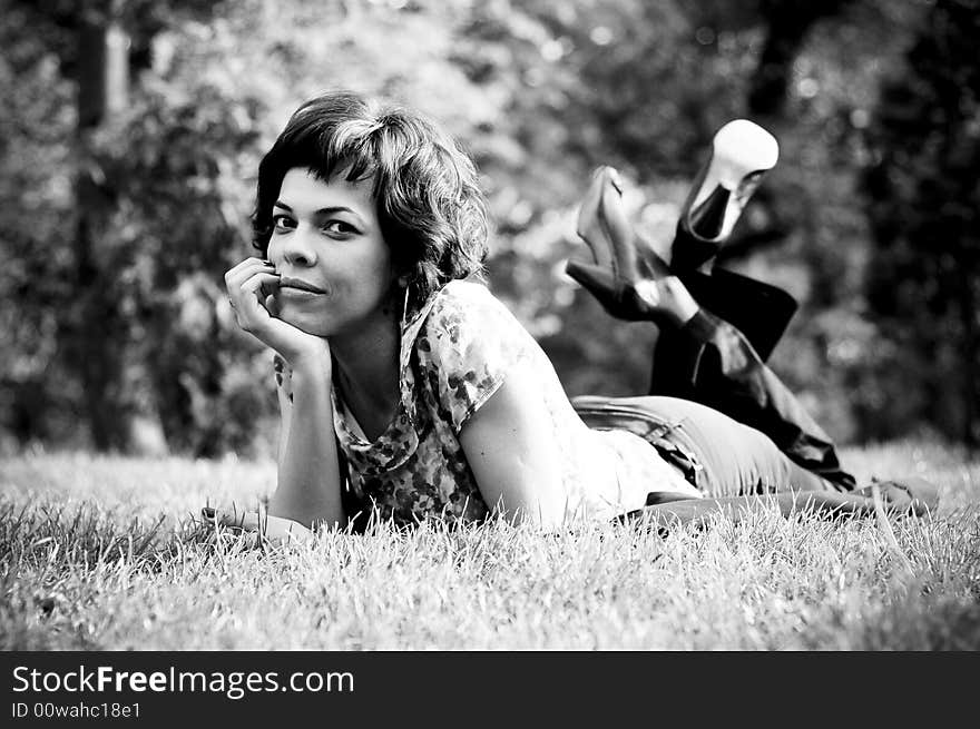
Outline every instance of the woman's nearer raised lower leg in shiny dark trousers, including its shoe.
[[(611, 315), (650, 321), (660, 329), (651, 394), (718, 410), (764, 433), (791, 461), (837, 489), (854, 487), (854, 479), (841, 469), (830, 437), (749, 341), (732, 324), (702, 309), (684, 277), (669, 272), (651, 246), (636, 235), (621, 209), (616, 175), (609, 168), (599, 170), (587, 194), (579, 235), (592, 249), (596, 265), (569, 262), (568, 273)], [(748, 279), (738, 278), (744, 288)], [(755, 298), (763, 304), (758, 317), (765, 319), (772, 314), (765, 303), (781, 297), (768, 292)], [(778, 311), (781, 332), (792, 308), (784, 302)], [(752, 318), (742, 316), (744, 321)], [(772, 327), (757, 328), (772, 339)]]

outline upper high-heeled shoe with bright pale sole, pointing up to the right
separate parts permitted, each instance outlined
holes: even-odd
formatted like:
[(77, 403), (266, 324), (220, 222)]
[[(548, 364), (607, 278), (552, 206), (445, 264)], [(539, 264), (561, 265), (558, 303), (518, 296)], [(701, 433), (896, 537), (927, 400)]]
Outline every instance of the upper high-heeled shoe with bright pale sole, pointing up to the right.
[(776, 138), (747, 119), (735, 119), (718, 129), (712, 156), (680, 208), (672, 245), (672, 270), (694, 270), (715, 257), (763, 175), (775, 167), (778, 157)]

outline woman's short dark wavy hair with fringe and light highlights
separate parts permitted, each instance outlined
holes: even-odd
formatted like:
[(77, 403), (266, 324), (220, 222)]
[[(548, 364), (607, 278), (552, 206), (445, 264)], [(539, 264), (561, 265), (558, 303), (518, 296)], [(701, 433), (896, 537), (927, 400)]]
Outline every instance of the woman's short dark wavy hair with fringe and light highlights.
[(333, 91), (310, 99), (258, 166), (253, 245), (263, 256), (273, 206), (291, 169), (327, 180), (373, 178), (381, 234), (412, 305), (455, 278), (482, 273), (489, 221), (472, 159), (435, 122), (405, 107)]

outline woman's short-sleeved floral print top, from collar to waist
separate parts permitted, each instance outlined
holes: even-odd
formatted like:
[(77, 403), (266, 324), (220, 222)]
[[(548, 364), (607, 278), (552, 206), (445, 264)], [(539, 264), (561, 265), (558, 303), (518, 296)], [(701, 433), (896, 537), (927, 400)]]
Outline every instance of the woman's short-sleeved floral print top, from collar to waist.
[(518, 366), (535, 378), (550, 415), (550, 432), (541, 437), (562, 453), (569, 515), (611, 519), (641, 508), (658, 490), (700, 495), (638, 435), (588, 430), (547, 355), (482, 284), (450, 282), (402, 323), (401, 335), (400, 400), (380, 436), (366, 440), (331, 387), (349, 511), (354, 504), (399, 524), (486, 518), (459, 434)]

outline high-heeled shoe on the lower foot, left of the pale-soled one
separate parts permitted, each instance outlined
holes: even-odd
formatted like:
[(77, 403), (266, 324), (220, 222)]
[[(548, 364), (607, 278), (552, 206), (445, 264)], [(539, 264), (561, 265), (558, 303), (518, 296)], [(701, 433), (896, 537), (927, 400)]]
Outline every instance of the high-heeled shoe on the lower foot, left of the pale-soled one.
[(667, 264), (633, 229), (621, 207), (623, 185), (611, 167), (592, 176), (576, 230), (592, 252), (595, 264), (569, 260), (566, 272), (602, 305), (627, 321), (665, 318), (657, 282)]

